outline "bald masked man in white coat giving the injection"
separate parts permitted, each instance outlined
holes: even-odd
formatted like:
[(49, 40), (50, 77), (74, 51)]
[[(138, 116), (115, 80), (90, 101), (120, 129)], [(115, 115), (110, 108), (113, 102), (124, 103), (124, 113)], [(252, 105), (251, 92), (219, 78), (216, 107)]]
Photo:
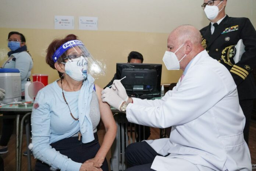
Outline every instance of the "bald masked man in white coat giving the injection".
[(167, 69), (184, 73), (160, 100), (128, 98), (118, 80), (102, 91), (102, 100), (126, 112), (129, 122), (172, 126), (170, 138), (129, 145), (125, 157), (133, 167), (127, 171), (252, 170), (243, 139), (245, 117), (230, 72), (204, 50), (200, 32), (191, 25), (174, 29), (167, 48)]

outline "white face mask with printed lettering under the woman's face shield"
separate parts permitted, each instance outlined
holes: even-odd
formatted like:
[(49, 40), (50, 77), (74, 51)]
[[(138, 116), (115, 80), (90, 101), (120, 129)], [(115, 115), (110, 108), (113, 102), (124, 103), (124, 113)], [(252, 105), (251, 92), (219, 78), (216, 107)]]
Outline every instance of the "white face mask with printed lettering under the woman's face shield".
[(65, 64), (65, 73), (76, 81), (82, 81), (87, 78), (88, 62), (81, 56), (78, 58), (70, 59)]

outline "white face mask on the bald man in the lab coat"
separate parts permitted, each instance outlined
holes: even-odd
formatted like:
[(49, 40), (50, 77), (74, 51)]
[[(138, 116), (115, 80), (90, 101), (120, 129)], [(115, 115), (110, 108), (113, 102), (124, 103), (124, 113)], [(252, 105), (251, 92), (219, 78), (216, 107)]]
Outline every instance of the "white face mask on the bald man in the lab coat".
[(171, 51), (166, 51), (164, 53), (163, 61), (164, 65), (166, 65), (167, 70), (179, 70), (179, 62), (186, 56), (186, 54), (181, 58), (181, 60), (178, 60), (176, 56), (176, 52), (185, 44), (185, 42), (173, 53)]

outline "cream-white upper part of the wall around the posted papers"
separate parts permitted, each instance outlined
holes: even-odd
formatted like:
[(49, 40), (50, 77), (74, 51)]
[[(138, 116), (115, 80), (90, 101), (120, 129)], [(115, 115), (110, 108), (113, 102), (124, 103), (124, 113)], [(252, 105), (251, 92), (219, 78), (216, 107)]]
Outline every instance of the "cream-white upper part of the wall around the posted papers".
[[(181, 24), (209, 24), (203, 0), (0, 0), (0, 28), (54, 29), (54, 15), (98, 17), (99, 31), (169, 33)], [(256, 25), (256, 0), (228, 0), (226, 13)]]

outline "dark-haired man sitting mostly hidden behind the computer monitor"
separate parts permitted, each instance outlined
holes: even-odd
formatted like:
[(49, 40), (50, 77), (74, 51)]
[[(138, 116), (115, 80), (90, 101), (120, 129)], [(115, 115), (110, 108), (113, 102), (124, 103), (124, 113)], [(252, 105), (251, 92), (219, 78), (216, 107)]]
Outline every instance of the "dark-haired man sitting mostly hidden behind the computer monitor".
[[(142, 54), (139, 53), (139, 52), (137, 52), (137, 51), (131, 51), (131, 52), (129, 53), (129, 55), (128, 55), (127, 63), (131, 63), (131, 64), (141, 64), (141, 63), (143, 63), (143, 56), (142, 56)], [(104, 87), (104, 89), (105, 89), (106, 87), (112, 85), (112, 84), (113, 84), (113, 81), (114, 81), (115, 79), (118, 79), (116, 73), (115, 73), (113, 79)], [(138, 127), (138, 125), (137, 125), (137, 127), (136, 127), (136, 132), (137, 132), (137, 138), (136, 138), (136, 140), (139, 141), (139, 127)], [(141, 131), (140, 131), (140, 132), (141, 132), (141, 138), (140, 138), (140, 140), (144, 140), (144, 136), (143, 136), (144, 130), (143, 130), (143, 128), (141, 128)], [(148, 139), (149, 136), (150, 136), (150, 127), (146, 127), (146, 126), (145, 126), (145, 139)]]

